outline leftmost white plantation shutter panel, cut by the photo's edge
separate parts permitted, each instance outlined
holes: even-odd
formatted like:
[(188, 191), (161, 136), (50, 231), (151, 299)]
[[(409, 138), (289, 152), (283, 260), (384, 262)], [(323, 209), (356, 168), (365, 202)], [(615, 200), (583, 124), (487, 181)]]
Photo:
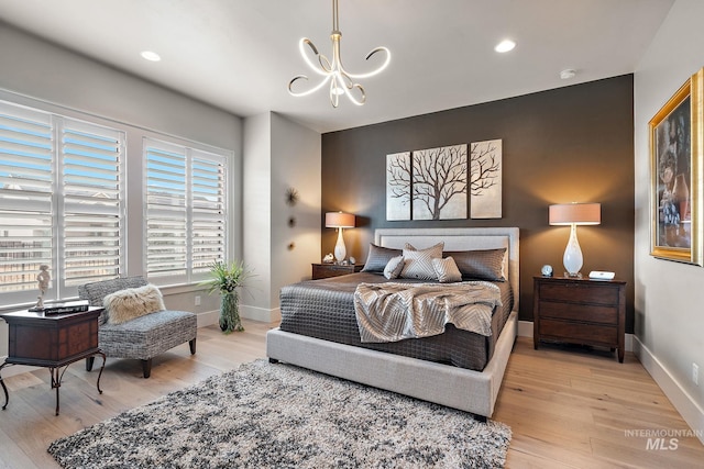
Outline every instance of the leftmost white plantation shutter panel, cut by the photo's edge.
[(51, 114), (0, 102), (0, 292), (7, 302), (30, 298), (40, 266), (52, 266), (53, 132)]

